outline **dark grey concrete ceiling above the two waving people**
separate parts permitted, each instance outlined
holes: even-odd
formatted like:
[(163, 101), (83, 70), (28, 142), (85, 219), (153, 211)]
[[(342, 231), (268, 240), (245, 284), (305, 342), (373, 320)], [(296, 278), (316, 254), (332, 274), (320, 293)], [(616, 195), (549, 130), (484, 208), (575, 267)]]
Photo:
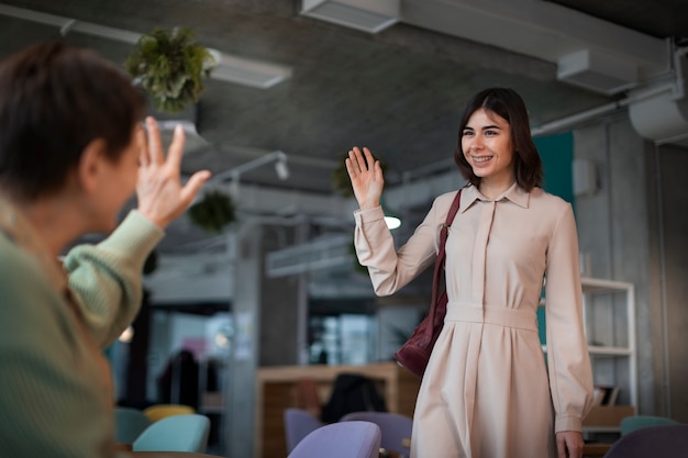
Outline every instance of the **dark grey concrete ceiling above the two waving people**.
[[(182, 167), (221, 174), (282, 150), (289, 178), (258, 167), (241, 176), (241, 192), (271, 192), (260, 196), (300, 214), (320, 211), (309, 199), (334, 205), (331, 174), (354, 145), (384, 159), (392, 188), (403, 177), (447, 171), (460, 109), (476, 91), (514, 88), (525, 99), (532, 126), (555, 132), (546, 129), (550, 123), (619, 100), (667, 74), (669, 47), (688, 37), (683, 20), (688, 2), (680, 0), (400, 0), (400, 21), (376, 34), (306, 16), (300, 0), (5, 0), (2, 5), (136, 34), (189, 26), (206, 46), (290, 67), (291, 77), (269, 89), (208, 80), (197, 107), (182, 115), (198, 133), (189, 138)], [(0, 57), (60, 36), (54, 24), (4, 10)], [(132, 49), (76, 27), (65, 37), (116, 63)], [(565, 58), (580, 51), (620, 63), (635, 80), (603, 93), (557, 77)], [(255, 198), (254, 210), (265, 200)], [(163, 248), (206, 237), (185, 221), (170, 231), (176, 235)]]

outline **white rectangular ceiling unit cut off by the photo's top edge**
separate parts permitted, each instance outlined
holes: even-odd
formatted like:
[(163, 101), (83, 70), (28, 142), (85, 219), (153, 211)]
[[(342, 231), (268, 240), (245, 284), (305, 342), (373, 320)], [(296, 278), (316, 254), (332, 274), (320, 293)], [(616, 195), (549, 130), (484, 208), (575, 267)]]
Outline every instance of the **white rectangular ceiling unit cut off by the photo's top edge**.
[(378, 33), (399, 21), (399, 0), (303, 0), (301, 14)]

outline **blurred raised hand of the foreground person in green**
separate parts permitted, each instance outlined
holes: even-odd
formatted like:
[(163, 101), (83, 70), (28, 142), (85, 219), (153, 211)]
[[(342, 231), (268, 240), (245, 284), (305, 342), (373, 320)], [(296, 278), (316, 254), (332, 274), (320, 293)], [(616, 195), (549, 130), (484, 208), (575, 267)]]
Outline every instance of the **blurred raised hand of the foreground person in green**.
[(181, 215), (191, 204), (203, 183), (210, 178), (210, 171), (201, 170), (191, 176), (181, 186), (179, 170), (184, 153), (184, 130), (175, 129), (167, 157), (163, 152), (160, 132), (157, 122), (146, 118), (147, 136), (141, 130), (141, 165), (136, 194), (138, 211), (162, 228)]

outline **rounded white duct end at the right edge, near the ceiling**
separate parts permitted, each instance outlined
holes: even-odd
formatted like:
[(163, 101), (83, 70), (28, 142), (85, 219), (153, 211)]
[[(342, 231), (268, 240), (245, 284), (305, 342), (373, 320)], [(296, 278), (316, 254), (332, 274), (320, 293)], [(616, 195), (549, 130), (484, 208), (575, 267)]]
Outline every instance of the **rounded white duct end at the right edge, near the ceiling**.
[[(629, 116), (635, 131), (644, 138), (658, 144), (688, 141), (688, 97), (684, 76), (686, 75), (686, 49), (675, 53), (675, 81), (664, 87), (631, 92)], [(651, 92), (652, 91), (652, 92)]]

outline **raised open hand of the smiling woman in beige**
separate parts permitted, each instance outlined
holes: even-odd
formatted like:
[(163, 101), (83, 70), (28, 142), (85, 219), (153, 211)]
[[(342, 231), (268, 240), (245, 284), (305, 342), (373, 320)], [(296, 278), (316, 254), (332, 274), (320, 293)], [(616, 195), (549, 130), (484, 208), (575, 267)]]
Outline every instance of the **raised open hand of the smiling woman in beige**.
[(360, 210), (374, 209), (380, 205), (380, 197), (385, 187), (382, 167), (376, 160), (370, 149), (357, 146), (348, 152), (346, 171), (352, 180), (354, 196)]

